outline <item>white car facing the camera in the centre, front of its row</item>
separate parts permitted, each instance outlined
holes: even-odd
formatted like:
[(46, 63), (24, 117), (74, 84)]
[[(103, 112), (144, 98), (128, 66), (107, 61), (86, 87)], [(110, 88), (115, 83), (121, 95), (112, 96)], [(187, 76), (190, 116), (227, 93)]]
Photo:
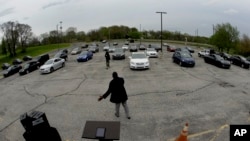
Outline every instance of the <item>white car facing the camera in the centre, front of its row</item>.
[(150, 63), (144, 52), (133, 52), (130, 58), (130, 69), (149, 69)]

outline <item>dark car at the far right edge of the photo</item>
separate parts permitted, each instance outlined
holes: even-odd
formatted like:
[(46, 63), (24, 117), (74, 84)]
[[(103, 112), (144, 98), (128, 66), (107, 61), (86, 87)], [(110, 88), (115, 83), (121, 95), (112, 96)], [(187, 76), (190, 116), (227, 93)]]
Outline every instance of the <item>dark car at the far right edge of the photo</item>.
[(240, 55), (233, 55), (230, 57), (230, 61), (232, 64), (241, 66), (242, 68), (249, 69), (250, 62), (247, 59)]

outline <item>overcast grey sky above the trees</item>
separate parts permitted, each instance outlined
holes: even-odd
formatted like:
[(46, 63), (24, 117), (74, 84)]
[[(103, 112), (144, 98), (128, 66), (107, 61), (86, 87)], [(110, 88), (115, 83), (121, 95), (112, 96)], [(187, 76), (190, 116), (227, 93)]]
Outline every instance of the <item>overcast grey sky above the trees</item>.
[[(211, 36), (213, 25), (230, 23), (250, 33), (250, 0), (0, 0), (0, 24), (18, 21), (35, 35), (76, 27), (88, 32), (102, 26), (125, 25), (138, 30), (180, 31)], [(1, 35), (2, 33), (0, 33)]]

